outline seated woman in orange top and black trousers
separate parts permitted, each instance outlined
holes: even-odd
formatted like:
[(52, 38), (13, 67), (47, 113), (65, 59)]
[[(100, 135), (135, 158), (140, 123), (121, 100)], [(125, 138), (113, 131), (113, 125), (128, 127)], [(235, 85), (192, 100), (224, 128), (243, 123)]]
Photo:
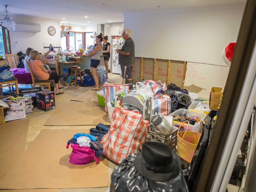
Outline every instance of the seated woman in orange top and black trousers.
[(50, 71), (46, 70), (42, 64), (41, 61), (38, 61), (39, 59), (39, 53), (38, 51), (31, 51), (30, 52), (30, 58), (32, 61), (30, 61), (30, 68), (34, 75), (37, 77), (38, 80), (55, 80), (55, 89), (56, 89), (56, 95), (64, 93), (63, 91), (60, 91), (59, 89), (64, 88), (64, 86), (61, 85), (59, 81), (59, 75), (56, 71)]

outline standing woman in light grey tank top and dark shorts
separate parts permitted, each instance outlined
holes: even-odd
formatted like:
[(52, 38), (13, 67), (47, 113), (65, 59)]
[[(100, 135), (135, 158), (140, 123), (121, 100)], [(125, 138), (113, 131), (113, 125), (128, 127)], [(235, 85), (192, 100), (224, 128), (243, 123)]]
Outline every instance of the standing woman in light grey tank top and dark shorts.
[(98, 35), (95, 39), (97, 45), (94, 47), (92, 52), (89, 52), (86, 56), (91, 57), (91, 74), (95, 81), (95, 86), (92, 86), (92, 91), (99, 90), (99, 76), (97, 74), (97, 66), (100, 63), (100, 55), (102, 54), (103, 46), (102, 46), (102, 36)]

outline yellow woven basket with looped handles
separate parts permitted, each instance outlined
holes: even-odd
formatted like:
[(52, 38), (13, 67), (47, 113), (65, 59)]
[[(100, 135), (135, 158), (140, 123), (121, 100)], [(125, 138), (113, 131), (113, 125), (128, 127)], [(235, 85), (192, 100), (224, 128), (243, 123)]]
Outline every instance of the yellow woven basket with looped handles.
[[(180, 127), (187, 122), (187, 128), (186, 131), (180, 131)], [(186, 120), (184, 121), (179, 127), (178, 130), (178, 134), (177, 134), (177, 151), (178, 151), (178, 155), (183, 158), (185, 161), (191, 163), (192, 158), (194, 156), (197, 144), (200, 140), (201, 137), (201, 133), (202, 133), (202, 129), (201, 129), (201, 133), (197, 133), (194, 131), (187, 131), (188, 127), (189, 127), (189, 121)]]

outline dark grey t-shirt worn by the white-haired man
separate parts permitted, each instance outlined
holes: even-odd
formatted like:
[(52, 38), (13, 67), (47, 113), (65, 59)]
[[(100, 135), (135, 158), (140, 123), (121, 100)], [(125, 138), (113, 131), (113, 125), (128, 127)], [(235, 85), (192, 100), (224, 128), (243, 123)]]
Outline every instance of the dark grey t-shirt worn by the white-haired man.
[(119, 65), (124, 66), (133, 66), (134, 65), (134, 58), (135, 58), (135, 46), (132, 38), (126, 39), (124, 45), (121, 48), (121, 51), (126, 53), (130, 53), (129, 55), (121, 55), (118, 54), (119, 58)]

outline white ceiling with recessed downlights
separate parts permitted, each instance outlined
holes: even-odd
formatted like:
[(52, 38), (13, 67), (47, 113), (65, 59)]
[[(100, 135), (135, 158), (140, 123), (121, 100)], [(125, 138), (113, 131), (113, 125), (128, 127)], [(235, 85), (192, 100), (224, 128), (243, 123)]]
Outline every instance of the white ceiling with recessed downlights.
[[(70, 24), (95, 25), (124, 22), (125, 12), (161, 12), (166, 9), (175, 11), (192, 7), (208, 9), (212, 6), (244, 3), (246, 0), (1, 0), (0, 11), (3, 12), (3, 5), (6, 4), (12, 16), (40, 17), (61, 22), (63, 20), (64, 23)], [(85, 18), (86, 16), (88, 18)]]

